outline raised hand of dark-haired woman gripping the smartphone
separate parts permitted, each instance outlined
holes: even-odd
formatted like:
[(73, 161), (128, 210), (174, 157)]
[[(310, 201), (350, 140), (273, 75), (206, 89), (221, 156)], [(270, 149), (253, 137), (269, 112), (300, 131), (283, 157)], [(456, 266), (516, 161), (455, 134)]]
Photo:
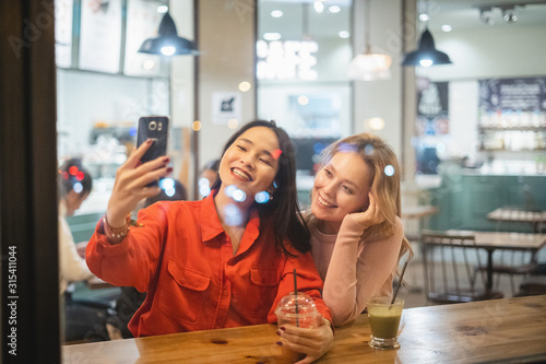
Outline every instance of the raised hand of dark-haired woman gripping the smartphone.
[(116, 172), (116, 180), (106, 212), (110, 226), (123, 226), (127, 215), (136, 208), (140, 200), (159, 193), (158, 186), (149, 187), (147, 185), (173, 172), (173, 168), (168, 166), (169, 158), (166, 155), (144, 164), (140, 161), (150, 146), (152, 146), (151, 141), (142, 143), (132, 151)]

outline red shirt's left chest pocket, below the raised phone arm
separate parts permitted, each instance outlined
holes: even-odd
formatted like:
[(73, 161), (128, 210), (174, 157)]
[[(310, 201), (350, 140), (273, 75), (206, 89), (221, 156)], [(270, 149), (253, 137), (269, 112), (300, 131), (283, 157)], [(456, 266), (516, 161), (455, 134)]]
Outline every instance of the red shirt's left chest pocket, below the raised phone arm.
[(159, 302), (162, 310), (185, 322), (198, 322), (209, 296), (206, 289), (211, 278), (190, 268), (182, 268), (173, 259), (167, 262), (167, 273), (163, 300)]

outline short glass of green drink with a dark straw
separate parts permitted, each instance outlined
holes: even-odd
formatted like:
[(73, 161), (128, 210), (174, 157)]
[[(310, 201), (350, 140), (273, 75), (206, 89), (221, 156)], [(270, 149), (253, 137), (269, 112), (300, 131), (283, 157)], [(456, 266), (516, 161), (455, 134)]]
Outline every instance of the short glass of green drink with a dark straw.
[(373, 349), (390, 350), (400, 348), (399, 326), (404, 308), (404, 300), (391, 297), (370, 297), (367, 301), (368, 318), (371, 328), (369, 345)]

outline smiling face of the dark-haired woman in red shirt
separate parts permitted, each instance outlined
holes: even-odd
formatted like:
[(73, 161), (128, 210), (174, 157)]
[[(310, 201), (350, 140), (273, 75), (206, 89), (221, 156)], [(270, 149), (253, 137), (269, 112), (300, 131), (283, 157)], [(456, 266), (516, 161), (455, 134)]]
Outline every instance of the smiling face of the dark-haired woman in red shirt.
[(221, 192), (235, 186), (250, 203), (260, 191), (272, 192), (278, 169), (280, 146), (275, 132), (266, 127), (245, 131), (229, 145), (219, 163)]

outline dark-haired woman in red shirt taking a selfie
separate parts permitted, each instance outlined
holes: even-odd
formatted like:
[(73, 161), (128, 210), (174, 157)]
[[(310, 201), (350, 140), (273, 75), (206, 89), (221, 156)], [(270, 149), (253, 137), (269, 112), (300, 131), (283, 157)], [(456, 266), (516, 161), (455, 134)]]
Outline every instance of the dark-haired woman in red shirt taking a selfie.
[(226, 143), (219, 179), (201, 201), (157, 202), (151, 181), (171, 172), (167, 156), (141, 164), (144, 143), (118, 169), (107, 212), (87, 250), (92, 272), (115, 285), (147, 292), (129, 322), (135, 337), (275, 322), (278, 301), (294, 291), (313, 297), (314, 329), (282, 327), (277, 344), (311, 363), (332, 345), (331, 313), (299, 215), (292, 142), (273, 121), (256, 120)]

